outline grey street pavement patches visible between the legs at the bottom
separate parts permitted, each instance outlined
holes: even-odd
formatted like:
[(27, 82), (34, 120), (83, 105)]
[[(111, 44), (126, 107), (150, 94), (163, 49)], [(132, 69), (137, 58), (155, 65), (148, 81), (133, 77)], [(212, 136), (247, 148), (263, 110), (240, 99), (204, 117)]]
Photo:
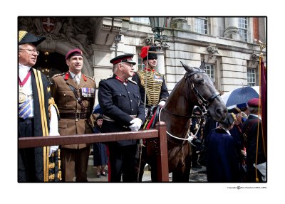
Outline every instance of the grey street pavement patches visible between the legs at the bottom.
[[(108, 167), (105, 167), (105, 173), (108, 173)], [(88, 170), (87, 170), (88, 182), (108, 182), (108, 176), (100, 176), (97, 178), (96, 168), (93, 167), (93, 155), (89, 156)], [(150, 171), (148, 166), (145, 167), (145, 173), (142, 177), (142, 182), (150, 182)], [(172, 181), (172, 173), (169, 174), (169, 181)], [(190, 173), (190, 182), (207, 182), (206, 168), (192, 168)]]

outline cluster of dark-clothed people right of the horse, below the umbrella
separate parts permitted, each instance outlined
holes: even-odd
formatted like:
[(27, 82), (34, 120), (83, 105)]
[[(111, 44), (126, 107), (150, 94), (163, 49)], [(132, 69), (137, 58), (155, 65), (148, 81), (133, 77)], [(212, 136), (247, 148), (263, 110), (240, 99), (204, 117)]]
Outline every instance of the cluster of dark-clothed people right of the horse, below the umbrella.
[[(203, 124), (199, 159), (192, 157), (192, 167), (200, 168), (197, 163), (206, 166), (209, 182), (266, 182), (266, 144), (258, 114), (259, 98), (249, 100), (242, 110), (238, 107), (228, 109), (224, 122), (218, 124), (206, 120)], [(197, 125), (197, 122), (192, 124)], [(193, 155), (196, 149), (197, 146)]]

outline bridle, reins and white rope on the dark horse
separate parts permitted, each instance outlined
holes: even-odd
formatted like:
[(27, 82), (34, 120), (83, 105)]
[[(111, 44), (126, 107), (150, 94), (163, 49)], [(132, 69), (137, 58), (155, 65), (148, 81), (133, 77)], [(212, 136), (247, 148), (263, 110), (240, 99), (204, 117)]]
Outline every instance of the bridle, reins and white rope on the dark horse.
[[(190, 134), (189, 134), (190, 131), (188, 131), (188, 132), (187, 132), (187, 136), (188, 136), (187, 138), (177, 137), (177, 136), (174, 136), (174, 135), (170, 134), (168, 131), (166, 131), (166, 133), (167, 133), (168, 135), (172, 136), (173, 138), (175, 138), (175, 139), (180, 139), (180, 140), (184, 140), (184, 141), (189, 141), (190, 144), (192, 144), (191, 141), (192, 141), (193, 138), (197, 135), (197, 133), (198, 133), (200, 127), (202, 126), (202, 122), (204, 121), (204, 115), (207, 114), (207, 107), (209, 106), (209, 104), (211, 104), (211, 103), (214, 101), (214, 99), (215, 99), (217, 96), (220, 95), (219, 92), (214, 92), (214, 94), (212, 94), (207, 100), (204, 99), (204, 97), (199, 93), (199, 90), (197, 90), (197, 87), (195, 87), (194, 82), (192, 82), (192, 80), (191, 80), (191, 78), (190, 78), (190, 77), (192, 77), (192, 75), (199, 74), (199, 73), (206, 74), (206, 72), (205, 72), (204, 70), (199, 70), (199, 71), (195, 71), (195, 72), (193, 72), (193, 73), (186, 73), (186, 74), (185, 74), (185, 78), (184, 78), (185, 81), (186, 81), (187, 79), (190, 81), (190, 87), (191, 87), (192, 91), (194, 92), (194, 95), (195, 95), (195, 97), (197, 98), (198, 103), (199, 103), (200, 106), (202, 107), (202, 108), (200, 107), (200, 109), (202, 110), (202, 119), (201, 119), (201, 122), (200, 122), (200, 124), (199, 124), (199, 128), (197, 129), (196, 133), (195, 133), (193, 136), (190, 135)], [(165, 109), (165, 107), (162, 107), (162, 108), (160, 109), (160, 113), (162, 112), (162, 109), (164, 109), (165, 112), (168, 112), (169, 114), (172, 114), (172, 115), (174, 115), (174, 116), (176, 116), (176, 117), (187, 117), (187, 118), (189, 118), (189, 119), (192, 117), (192, 116), (185, 116), (185, 115), (180, 115), (180, 114), (172, 113), (172, 112), (170, 112), (169, 110)], [(160, 121), (160, 113), (159, 113), (159, 121)], [(194, 144), (192, 144), (192, 145), (195, 146)]]

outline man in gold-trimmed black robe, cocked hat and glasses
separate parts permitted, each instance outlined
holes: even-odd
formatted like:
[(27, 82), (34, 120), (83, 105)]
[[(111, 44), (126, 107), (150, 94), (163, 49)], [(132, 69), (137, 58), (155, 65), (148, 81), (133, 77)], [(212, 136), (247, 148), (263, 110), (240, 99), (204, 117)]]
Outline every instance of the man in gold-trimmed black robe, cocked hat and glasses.
[[(59, 135), (58, 113), (49, 92), (50, 83), (46, 75), (32, 68), (39, 55), (36, 46), (44, 40), (19, 31), (19, 137)], [(57, 149), (58, 146), (19, 149), (18, 181), (49, 181), (48, 158)], [(61, 175), (53, 176), (61, 180)]]

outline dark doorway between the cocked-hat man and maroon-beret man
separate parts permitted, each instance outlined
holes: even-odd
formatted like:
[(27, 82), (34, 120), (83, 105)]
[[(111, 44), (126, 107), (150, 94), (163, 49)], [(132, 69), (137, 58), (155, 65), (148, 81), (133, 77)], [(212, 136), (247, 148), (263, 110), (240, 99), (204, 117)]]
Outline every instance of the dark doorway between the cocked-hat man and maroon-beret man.
[(40, 52), (33, 68), (40, 70), (48, 77), (48, 80), (51, 80), (53, 75), (68, 71), (65, 57), (59, 53), (49, 52)]

